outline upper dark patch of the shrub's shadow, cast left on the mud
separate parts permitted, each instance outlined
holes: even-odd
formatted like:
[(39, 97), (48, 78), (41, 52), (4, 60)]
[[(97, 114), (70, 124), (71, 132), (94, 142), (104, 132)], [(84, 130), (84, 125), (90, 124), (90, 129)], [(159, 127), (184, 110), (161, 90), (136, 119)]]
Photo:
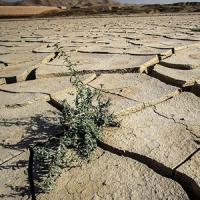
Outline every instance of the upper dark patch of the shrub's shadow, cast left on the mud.
[(0, 146), (14, 150), (24, 150), (30, 145), (43, 143), (57, 135), (62, 129), (58, 117), (47, 117), (37, 114), (30, 118), (2, 120), (1, 127), (20, 127), (23, 130), (21, 138), (14, 144), (0, 142)]

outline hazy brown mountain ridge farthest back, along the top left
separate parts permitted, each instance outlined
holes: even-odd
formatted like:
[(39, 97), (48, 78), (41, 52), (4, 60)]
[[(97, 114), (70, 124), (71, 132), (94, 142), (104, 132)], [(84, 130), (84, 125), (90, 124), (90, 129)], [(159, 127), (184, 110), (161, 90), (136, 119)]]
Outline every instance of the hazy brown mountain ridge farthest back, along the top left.
[(4, 2), (0, 0), (0, 6), (66, 6), (66, 7), (96, 7), (96, 6), (115, 6), (121, 7), (123, 4), (113, 0), (24, 0), (18, 2)]

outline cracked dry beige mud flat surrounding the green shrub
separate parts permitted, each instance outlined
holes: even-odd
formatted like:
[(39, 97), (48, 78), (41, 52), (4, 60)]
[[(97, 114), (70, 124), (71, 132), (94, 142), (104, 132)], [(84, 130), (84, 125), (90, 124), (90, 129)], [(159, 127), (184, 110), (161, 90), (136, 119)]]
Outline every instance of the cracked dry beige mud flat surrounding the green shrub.
[[(0, 197), (32, 199), (28, 147), (61, 130), (70, 73), (103, 85), (120, 128), (38, 200), (200, 199), (200, 15), (0, 21)], [(32, 188), (33, 189), (33, 188)]]

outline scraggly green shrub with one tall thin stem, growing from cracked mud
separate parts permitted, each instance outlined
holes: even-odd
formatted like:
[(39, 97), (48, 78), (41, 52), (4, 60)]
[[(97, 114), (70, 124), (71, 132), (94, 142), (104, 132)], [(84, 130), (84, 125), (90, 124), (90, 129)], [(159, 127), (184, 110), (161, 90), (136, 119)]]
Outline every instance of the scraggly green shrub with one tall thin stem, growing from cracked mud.
[[(74, 69), (69, 57), (56, 45), (56, 52), (64, 58), (64, 62), (71, 72), (71, 83), (76, 88), (73, 105), (67, 100), (62, 102), (63, 109), (60, 123), (63, 133), (57, 138), (56, 148), (34, 147), (39, 159), (48, 160), (48, 174), (37, 185), (44, 192), (50, 191), (61, 169), (74, 161), (90, 158), (91, 152), (97, 147), (102, 138), (104, 127), (120, 126), (120, 122), (109, 112), (110, 99), (102, 96), (100, 89), (91, 88), (82, 83), (80, 75)], [(73, 154), (72, 154), (73, 152)]]

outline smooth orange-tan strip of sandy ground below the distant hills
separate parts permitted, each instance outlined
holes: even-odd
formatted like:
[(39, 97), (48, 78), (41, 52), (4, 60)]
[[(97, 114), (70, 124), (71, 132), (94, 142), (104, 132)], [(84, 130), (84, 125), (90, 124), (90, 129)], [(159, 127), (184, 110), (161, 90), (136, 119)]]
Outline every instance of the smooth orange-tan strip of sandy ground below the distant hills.
[(59, 9), (48, 6), (0, 6), (0, 16), (35, 15), (50, 10)]

